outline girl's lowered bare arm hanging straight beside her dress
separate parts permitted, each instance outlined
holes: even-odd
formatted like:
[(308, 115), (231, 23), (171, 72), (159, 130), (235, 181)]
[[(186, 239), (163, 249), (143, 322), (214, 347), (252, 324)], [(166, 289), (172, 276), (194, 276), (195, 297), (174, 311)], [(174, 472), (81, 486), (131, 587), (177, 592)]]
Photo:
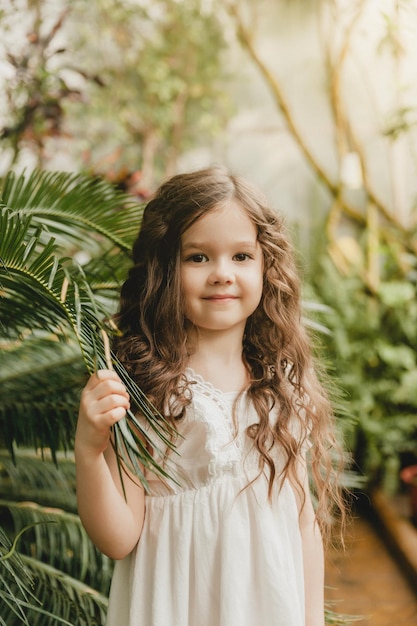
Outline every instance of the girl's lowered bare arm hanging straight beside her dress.
[[(300, 510), (305, 587), (305, 626), (324, 626), (324, 554), (320, 529), (310, 496), (307, 466), (298, 463), (298, 481), (293, 482)], [(302, 487), (302, 492), (301, 492)]]

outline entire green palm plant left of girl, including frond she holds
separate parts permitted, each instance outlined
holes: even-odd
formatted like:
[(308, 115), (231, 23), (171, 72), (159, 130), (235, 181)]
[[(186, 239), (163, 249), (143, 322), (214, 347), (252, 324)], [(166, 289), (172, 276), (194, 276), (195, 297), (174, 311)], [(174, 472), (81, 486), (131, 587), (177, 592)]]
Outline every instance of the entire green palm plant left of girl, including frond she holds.
[[(46, 470), (41, 479), (40, 471), (37, 469), (35, 472), (32, 461), (17, 455), (18, 467), (27, 472), (27, 478), (25, 480), (20, 476), (17, 481), (21, 485), (20, 495), (15, 491), (9, 494), (12, 499), (7, 501), (5, 496), (11, 481), (2, 480), (2, 519), (9, 520), (10, 537), (23, 527), (49, 519), (51, 515), (58, 522), (56, 527), (47, 524), (44, 531), (36, 525), (33, 530), (35, 541), (32, 531), (25, 539), (20, 539), (24, 548), (20, 564), (27, 566), (32, 578), (44, 582), (54, 576), (59, 579), (53, 585), (57, 590), (56, 597), (46, 593), (47, 586), (45, 594), (42, 594), (43, 600), (52, 604), (51, 607), (42, 606), (42, 611), (37, 611), (36, 620), (46, 621), (35, 621), (30, 613), (29, 623), (49, 624), (45, 611), (54, 611), (61, 603), (61, 617), (74, 620), (76, 624), (99, 623), (97, 611), (101, 614), (104, 606), (101, 596), (88, 590), (84, 605), (80, 601), (80, 606), (84, 606), (83, 615), (74, 616), (71, 609), (74, 594), (78, 598), (78, 594), (85, 592), (84, 588), (72, 578), (63, 577), (60, 570), (54, 574), (51, 566), (48, 564), (46, 567), (41, 561), (50, 560), (51, 555), (58, 554), (61, 558), (57, 565), (66, 575), (76, 574), (80, 581), (89, 580), (85, 573), (88, 570), (96, 589), (107, 585), (108, 580), (100, 582), (100, 572), (106, 570), (102, 564), (95, 568), (99, 577), (97, 573), (93, 574), (97, 557), (94, 561), (91, 554), (96, 553), (91, 545), (87, 551), (83, 547), (89, 545), (89, 540), (78, 518), (73, 514), (45, 511), (40, 506), (16, 506), (13, 498), (32, 499), (36, 496), (38, 504), (50, 507), (60, 503), (66, 510), (69, 502), (74, 506), (73, 481), (71, 487), (62, 489), (65, 481), (62, 483), (62, 476), (58, 474), (62, 461), (58, 462), (57, 455), (60, 451), (72, 449), (80, 388), (86, 373), (98, 367), (114, 367), (122, 376), (133, 401), (154, 429), (164, 441), (169, 438), (168, 425), (158, 419), (154, 408), (106, 348), (107, 334), (114, 332), (107, 320), (115, 310), (119, 276), (128, 264), (127, 252), (140, 222), (141, 207), (133, 198), (116, 191), (108, 183), (69, 173), (38, 171), (20, 176), (11, 173), (2, 183), (1, 196), (1, 444), (9, 449), (13, 457), (24, 446), (43, 450), (58, 465), (58, 469), (55, 465), (51, 466), (55, 473), (52, 476), (50, 472), (46, 481)], [(86, 261), (83, 265), (77, 261), (81, 252)], [(120, 427), (115, 428), (115, 445), (124, 462), (144, 480), (141, 465), (149, 467), (151, 464), (155, 471), (159, 468), (154, 465), (130, 424), (140, 428), (135, 416), (127, 415)], [(3, 478), (5, 475), (16, 476), (20, 471), (13, 470), (10, 463), (6, 466), (5, 460), (1, 467)], [(39, 477), (35, 480), (37, 488), (29, 489), (25, 494), (25, 486), (34, 486), (35, 475)], [(146, 481), (144, 483), (146, 487)], [(58, 485), (61, 485), (59, 489)], [(51, 490), (58, 494), (55, 499)], [(63, 502), (60, 502), (62, 499)], [(13, 523), (10, 520), (14, 520)], [(72, 543), (62, 544), (61, 549), (55, 551), (58, 538), (64, 541), (65, 533)], [(37, 558), (33, 558), (34, 546), (38, 550)], [(25, 550), (26, 555), (32, 557), (30, 562), (23, 558)], [(83, 559), (74, 569), (75, 557), (65, 560), (65, 555), (74, 555), (80, 550)], [(89, 562), (88, 566), (86, 562)], [(4, 565), (6, 560), (2, 563)], [(7, 565), (10, 563), (7, 560)], [(35, 572), (37, 563), (39, 571)], [(10, 608), (13, 590), (20, 593), (17, 602), (23, 610), (30, 602), (30, 596), (23, 588), (16, 587), (13, 571), (7, 569), (11, 579), (9, 576), (9, 582), (5, 589), (0, 590), (0, 596), (5, 594), (7, 602), (4, 607)], [(97, 610), (88, 609), (87, 605), (91, 603)], [(11, 620), (11, 614), (7, 615), (7, 620)], [(19, 619), (18, 615), (16, 619)]]

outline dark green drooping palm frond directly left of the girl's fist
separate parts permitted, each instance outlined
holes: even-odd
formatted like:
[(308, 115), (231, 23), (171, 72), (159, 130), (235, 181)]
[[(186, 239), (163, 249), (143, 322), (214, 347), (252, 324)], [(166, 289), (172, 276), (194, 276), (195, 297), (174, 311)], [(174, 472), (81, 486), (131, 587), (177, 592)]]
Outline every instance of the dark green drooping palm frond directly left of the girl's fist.
[(55, 335), (42, 334), (6, 344), (0, 368), (1, 445), (12, 456), (14, 444), (33, 449), (46, 446), (53, 455), (57, 449), (71, 449), (85, 379), (85, 365), (74, 340), (63, 343)]

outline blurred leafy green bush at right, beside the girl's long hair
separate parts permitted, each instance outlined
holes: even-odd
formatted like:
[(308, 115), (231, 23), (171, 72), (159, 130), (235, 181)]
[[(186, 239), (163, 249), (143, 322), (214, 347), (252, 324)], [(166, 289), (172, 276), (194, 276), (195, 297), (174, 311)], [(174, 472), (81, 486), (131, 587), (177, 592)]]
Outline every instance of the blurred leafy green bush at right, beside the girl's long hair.
[(417, 258), (408, 256), (403, 276), (394, 260), (385, 248), (375, 290), (355, 271), (342, 275), (326, 253), (312, 279), (331, 310), (321, 318), (331, 330), (324, 341), (357, 421), (355, 459), (391, 491), (403, 461), (417, 455)]

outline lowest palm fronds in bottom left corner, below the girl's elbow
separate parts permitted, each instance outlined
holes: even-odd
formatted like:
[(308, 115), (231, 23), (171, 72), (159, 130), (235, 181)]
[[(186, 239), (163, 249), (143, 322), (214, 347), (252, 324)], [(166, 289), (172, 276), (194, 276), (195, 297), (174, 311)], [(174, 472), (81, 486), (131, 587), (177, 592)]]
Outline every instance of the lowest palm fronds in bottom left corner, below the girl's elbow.
[[(63, 519), (69, 514), (58, 509), (42, 509), (34, 503), (1, 502), (0, 511), (2, 517), (4, 512), (12, 514), (15, 527), (19, 527), (22, 519), (30, 522), (20, 528), (13, 544), (0, 528), (0, 624), (100, 626), (106, 614), (107, 596), (81, 581), (86, 572), (94, 577), (94, 568), (105, 565), (106, 558), (91, 545), (78, 517), (73, 515), (70, 520)], [(51, 533), (50, 528), (55, 531)], [(32, 532), (35, 541), (32, 540), (27, 547), (21, 546), (22, 539)], [(35, 557), (28, 556), (29, 549)], [(39, 550), (45, 549), (47, 561), (51, 552), (55, 554), (59, 569), (39, 558)], [(92, 556), (96, 558), (90, 560)], [(66, 573), (67, 569), (74, 569), (75, 563), (79, 564), (77, 578)], [(103, 567), (104, 577), (106, 574), (110, 576), (111, 571), (111, 564)]]

